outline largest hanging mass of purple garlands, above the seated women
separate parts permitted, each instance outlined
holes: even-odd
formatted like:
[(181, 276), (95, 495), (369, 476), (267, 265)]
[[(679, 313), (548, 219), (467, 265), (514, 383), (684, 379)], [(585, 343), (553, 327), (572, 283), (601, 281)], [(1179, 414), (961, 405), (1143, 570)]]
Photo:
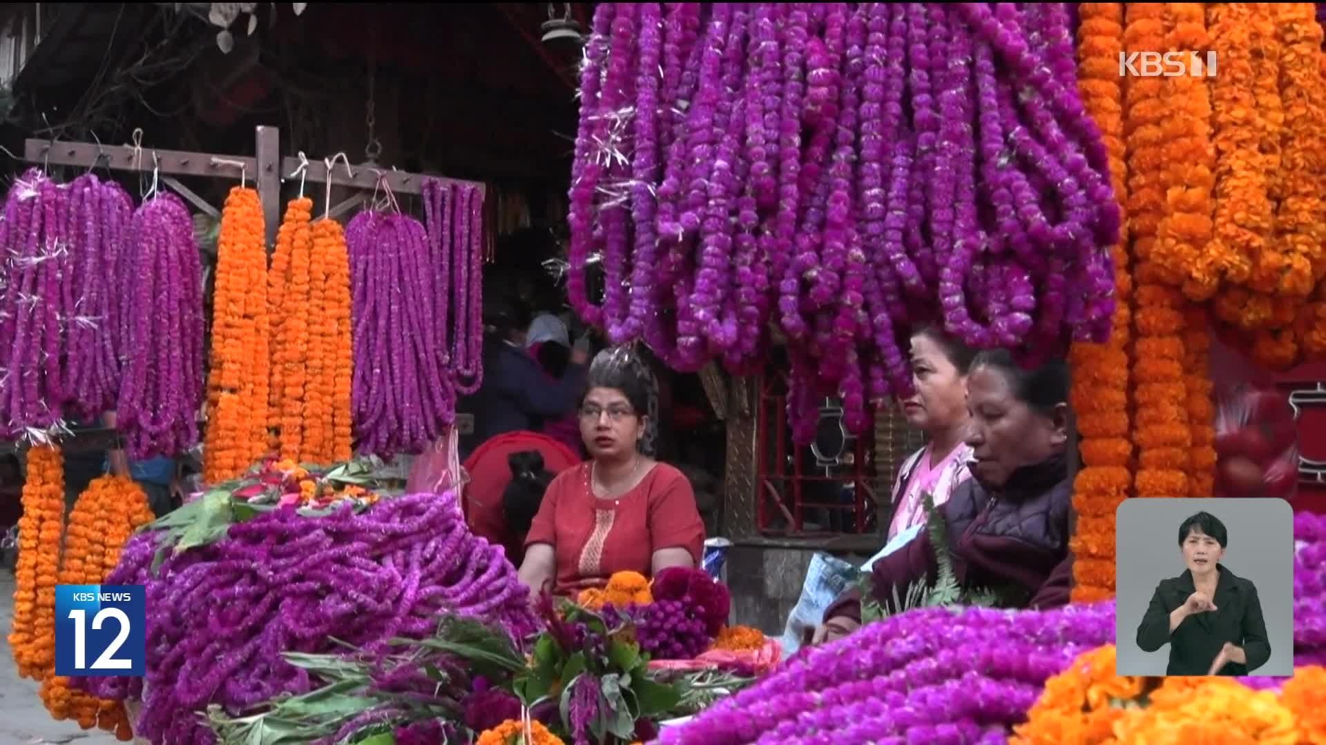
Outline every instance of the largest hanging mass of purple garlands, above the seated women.
[(773, 330), (800, 441), (818, 395), (859, 432), (908, 392), (920, 323), (1109, 335), (1120, 216), (1065, 4), (603, 3), (581, 101), (577, 313), (679, 370), (757, 370)]

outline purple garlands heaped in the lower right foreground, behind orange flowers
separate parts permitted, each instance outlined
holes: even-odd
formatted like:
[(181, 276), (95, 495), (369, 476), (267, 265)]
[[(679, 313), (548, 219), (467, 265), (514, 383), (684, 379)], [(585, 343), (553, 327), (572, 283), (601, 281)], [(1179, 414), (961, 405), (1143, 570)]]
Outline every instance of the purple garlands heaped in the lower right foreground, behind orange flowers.
[[(1294, 516), (1294, 663), (1326, 664), (1326, 516)], [(1114, 602), (910, 611), (809, 648), (660, 745), (1004, 742), (1045, 681), (1115, 640)], [(1248, 676), (1270, 689), (1288, 677)]]

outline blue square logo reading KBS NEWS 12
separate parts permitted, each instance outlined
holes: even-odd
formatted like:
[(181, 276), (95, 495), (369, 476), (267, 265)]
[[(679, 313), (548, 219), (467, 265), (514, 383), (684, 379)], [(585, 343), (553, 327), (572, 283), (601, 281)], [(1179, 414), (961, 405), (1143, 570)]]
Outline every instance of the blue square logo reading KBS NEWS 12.
[(146, 675), (146, 623), (142, 585), (56, 585), (56, 675)]

